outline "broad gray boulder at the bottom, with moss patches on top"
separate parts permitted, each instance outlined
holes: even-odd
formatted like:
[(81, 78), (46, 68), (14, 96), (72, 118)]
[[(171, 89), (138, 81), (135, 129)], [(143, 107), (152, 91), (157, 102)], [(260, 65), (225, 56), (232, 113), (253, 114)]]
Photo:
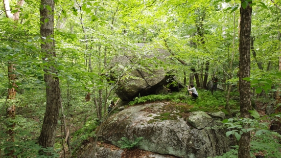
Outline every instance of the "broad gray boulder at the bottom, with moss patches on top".
[(101, 140), (120, 146), (122, 137), (143, 137), (138, 149), (184, 158), (214, 157), (229, 151), (235, 141), (226, 137), (227, 129), (206, 128), (221, 126), (221, 121), (214, 119), (203, 129), (194, 128), (182, 118), (180, 106), (172, 109), (170, 103), (150, 103), (128, 107), (100, 126)]

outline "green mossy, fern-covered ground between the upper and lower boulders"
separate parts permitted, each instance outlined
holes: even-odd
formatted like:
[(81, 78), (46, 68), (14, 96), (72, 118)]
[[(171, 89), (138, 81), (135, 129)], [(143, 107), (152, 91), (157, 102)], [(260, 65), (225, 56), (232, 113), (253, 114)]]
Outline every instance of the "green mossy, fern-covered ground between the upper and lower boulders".
[[(185, 91), (171, 93), (167, 95), (150, 95), (140, 98), (135, 98), (130, 102), (130, 105), (140, 105), (144, 103), (164, 102), (165, 106), (155, 108), (158, 106), (152, 104), (151, 107), (146, 107), (143, 111), (148, 112), (148, 117), (153, 117), (148, 123), (153, 123), (163, 120), (176, 120), (183, 118), (184, 120), (189, 117), (190, 112), (193, 111), (205, 111), (205, 112), (218, 112), (222, 111), (225, 115), (228, 115), (229, 111), (225, 109), (225, 95), (224, 92), (215, 92), (213, 95), (209, 91), (198, 91), (200, 97), (194, 99), (185, 95)], [(230, 102), (231, 109), (238, 109), (238, 102)], [(152, 116), (151, 114), (157, 114)]]

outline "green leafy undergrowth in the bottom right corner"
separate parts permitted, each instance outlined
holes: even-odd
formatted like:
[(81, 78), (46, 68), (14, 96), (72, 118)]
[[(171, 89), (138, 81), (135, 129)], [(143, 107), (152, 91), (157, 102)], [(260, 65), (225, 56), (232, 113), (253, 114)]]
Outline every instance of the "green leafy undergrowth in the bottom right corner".
[[(279, 144), (281, 135), (274, 131), (270, 131), (268, 129), (269, 124), (262, 121), (267, 120), (268, 116), (260, 117), (259, 113), (255, 110), (249, 110), (249, 112), (254, 119), (230, 118), (222, 121), (228, 126), (227, 129), (231, 129), (231, 131), (226, 132), (226, 136), (228, 137), (233, 134), (236, 137), (237, 141), (239, 141), (241, 138), (241, 134), (251, 132), (251, 156), (254, 156), (253, 153), (255, 152), (259, 153), (260, 151), (262, 151), (265, 156), (278, 157), (280, 155), (279, 151), (281, 149), (281, 146)], [(272, 116), (280, 117), (277, 114)], [(218, 157), (237, 157), (237, 153), (238, 151), (232, 150), (231, 152), (227, 152), (223, 156)]]

